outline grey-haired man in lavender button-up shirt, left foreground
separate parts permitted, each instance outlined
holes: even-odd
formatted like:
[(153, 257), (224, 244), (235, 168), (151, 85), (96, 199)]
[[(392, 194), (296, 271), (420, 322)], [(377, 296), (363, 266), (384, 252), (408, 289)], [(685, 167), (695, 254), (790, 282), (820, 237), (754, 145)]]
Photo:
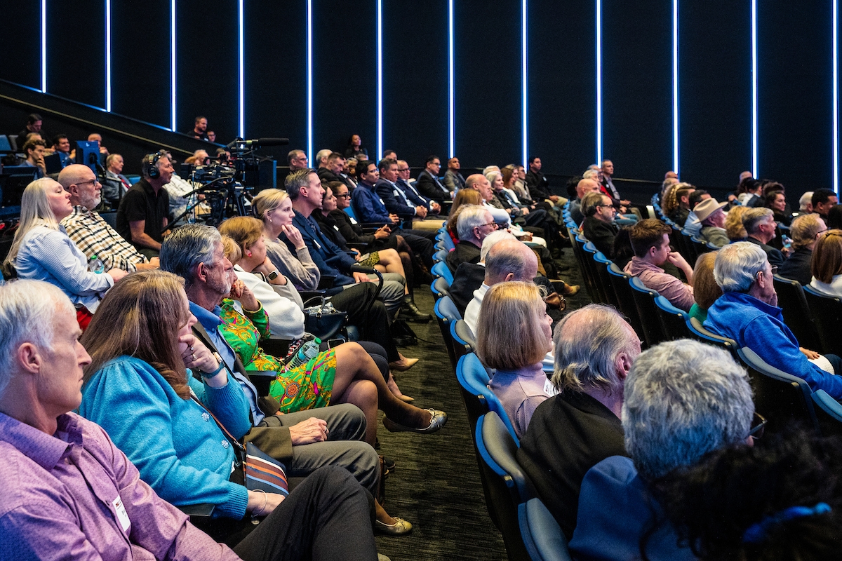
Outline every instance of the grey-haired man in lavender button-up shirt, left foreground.
[[(69, 412), (82, 402), (91, 362), (81, 335), (59, 288), (33, 280), (0, 286), (0, 559), (239, 559), (141, 481), (102, 428)], [(307, 558), (375, 558), (370, 532), (350, 545), (310, 543), (312, 529), (279, 532), (273, 517), (315, 526), (310, 500), (287, 499), (237, 544), (243, 558), (305, 557), (302, 546), (312, 547)], [(370, 528), (360, 500), (362, 511), (351, 514)]]

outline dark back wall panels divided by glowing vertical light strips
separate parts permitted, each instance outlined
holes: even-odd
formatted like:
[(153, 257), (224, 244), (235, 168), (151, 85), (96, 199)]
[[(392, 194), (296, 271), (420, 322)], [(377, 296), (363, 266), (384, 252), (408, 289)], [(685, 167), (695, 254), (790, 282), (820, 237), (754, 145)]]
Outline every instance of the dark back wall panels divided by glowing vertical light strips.
[[(104, 107), (104, 0), (48, 2), (47, 90)], [(306, 0), (245, 3), (245, 134), (306, 148)], [(312, 148), (377, 148), (377, 1), (312, 2)], [(448, 154), (448, 0), (382, 2), (383, 138), (413, 167)], [(454, 0), (456, 155), (522, 157), (520, 0)], [(832, 186), (831, 4), (760, 3), (759, 175), (791, 192)], [(237, 134), (237, 3), (177, 0), (177, 129), (204, 114)], [(528, 146), (546, 172), (596, 156), (595, 4), (528, 0)], [(751, 167), (749, 3), (679, 5), (680, 169), (731, 187)], [(40, 3), (3, 3), (14, 56), (0, 78), (40, 87)], [(169, 1), (112, 2), (113, 111), (170, 125)], [(673, 167), (672, 2), (602, 0), (603, 155), (618, 177)], [(73, 40), (70, 39), (72, 36)], [(82, 38), (82, 39), (78, 39)], [(17, 132), (19, 126), (8, 132)], [(54, 132), (49, 124), (47, 130)], [(287, 147), (264, 152), (285, 164)]]

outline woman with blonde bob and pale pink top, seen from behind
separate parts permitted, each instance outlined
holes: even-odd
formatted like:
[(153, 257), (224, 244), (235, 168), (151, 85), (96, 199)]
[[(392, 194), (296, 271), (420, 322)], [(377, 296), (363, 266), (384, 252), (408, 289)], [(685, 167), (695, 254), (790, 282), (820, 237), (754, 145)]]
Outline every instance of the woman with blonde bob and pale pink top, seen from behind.
[(477, 356), (496, 368), (489, 387), (503, 404), (518, 437), (549, 396), (541, 361), (552, 351), (552, 318), (535, 283), (498, 283), (482, 299)]

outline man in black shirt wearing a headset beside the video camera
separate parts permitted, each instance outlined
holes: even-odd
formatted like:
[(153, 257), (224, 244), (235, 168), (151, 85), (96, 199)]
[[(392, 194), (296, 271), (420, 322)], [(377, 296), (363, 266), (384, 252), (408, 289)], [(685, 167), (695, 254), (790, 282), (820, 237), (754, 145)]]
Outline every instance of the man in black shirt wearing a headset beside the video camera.
[(174, 170), (165, 152), (147, 154), (141, 164), (143, 177), (125, 193), (117, 209), (117, 231), (152, 259), (158, 256), (161, 242), (169, 233), (169, 196), (163, 186)]

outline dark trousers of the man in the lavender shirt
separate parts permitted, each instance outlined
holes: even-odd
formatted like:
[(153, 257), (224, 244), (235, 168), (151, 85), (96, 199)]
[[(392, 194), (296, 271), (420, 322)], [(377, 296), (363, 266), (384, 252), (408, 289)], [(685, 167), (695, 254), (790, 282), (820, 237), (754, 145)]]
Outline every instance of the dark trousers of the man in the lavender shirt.
[(370, 496), (343, 468), (319, 468), (233, 546), (234, 552), (245, 561), (373, 561)]

